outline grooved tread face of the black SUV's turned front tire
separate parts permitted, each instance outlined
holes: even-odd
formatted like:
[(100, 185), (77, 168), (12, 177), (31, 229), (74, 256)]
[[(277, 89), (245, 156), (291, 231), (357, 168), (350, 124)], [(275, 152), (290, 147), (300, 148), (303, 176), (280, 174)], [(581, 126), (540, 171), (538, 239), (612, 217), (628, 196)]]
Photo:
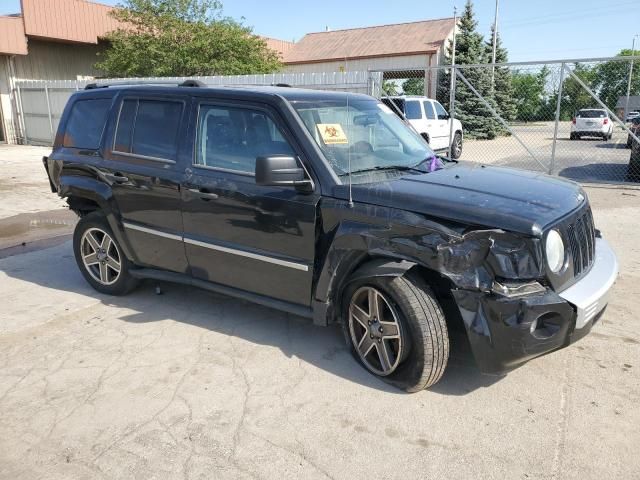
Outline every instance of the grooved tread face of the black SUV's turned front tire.
[[(424, 368), (415, 385), (406, 385), (408, 392), (429, 388), (442, 378), (449, 360), (449, 333), (444, 313), (427, 283), (417, 275), (409, 273), (396, 277), (393, 283), (403, 292), (405, 299), (399, 298), (404, 312), (411, 312), (413, 321), (418, 322), (420, 331), (428, 333), (416, 339), (424, 348)], [(405, 303), (406, 302), (406, 303)], [(405, 315), (407, 314), (405, 313)]]

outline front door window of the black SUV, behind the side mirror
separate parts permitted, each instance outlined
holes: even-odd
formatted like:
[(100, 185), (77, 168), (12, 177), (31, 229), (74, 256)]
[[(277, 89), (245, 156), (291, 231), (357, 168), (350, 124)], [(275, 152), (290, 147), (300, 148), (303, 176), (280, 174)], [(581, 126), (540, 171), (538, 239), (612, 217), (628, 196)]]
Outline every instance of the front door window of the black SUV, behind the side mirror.
[(294, 155), (282, 133), (261, 111), (201, 106), (195, 164), (254, 173), (256, 158)]

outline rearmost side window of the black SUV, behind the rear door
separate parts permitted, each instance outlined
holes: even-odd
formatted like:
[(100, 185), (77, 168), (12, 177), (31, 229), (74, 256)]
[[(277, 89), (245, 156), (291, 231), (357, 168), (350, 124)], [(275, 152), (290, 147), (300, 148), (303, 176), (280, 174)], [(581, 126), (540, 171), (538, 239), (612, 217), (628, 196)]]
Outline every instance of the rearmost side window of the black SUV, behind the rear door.
[(110, 98), (78, 100), (71, 107), (62, 145), (96, 150), (107, 121)]

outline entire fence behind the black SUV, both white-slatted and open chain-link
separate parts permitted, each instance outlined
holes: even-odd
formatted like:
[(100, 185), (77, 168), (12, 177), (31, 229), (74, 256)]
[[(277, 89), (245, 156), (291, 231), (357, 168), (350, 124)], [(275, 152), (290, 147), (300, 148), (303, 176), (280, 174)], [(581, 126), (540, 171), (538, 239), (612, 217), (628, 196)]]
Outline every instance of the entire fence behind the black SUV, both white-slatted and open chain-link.
[[(633, 152), (631, 147), (640, 143), (636, 133), (640, 115), (632, 120), (630, 113), (640, 110), (640, 64), (634, 75), (630, 71), (639, 60), (611, 57), (198, 79), (211, 86), (284, 83), (398, 97), (393, 105), (401, 105), (401, 114), (431, 146), (452, 156), (460, 154), (461, 160), (579, 182), (638, 183), (640, 154), (633, 152), (640, 147)], [(186, 78), (115, 80), (180, 83)], [(50, 145), (69, 96), (93, 81), (18, 81), (22, 143)], [(461, 152), (450, 148), (457, 133), (462, 137)]]

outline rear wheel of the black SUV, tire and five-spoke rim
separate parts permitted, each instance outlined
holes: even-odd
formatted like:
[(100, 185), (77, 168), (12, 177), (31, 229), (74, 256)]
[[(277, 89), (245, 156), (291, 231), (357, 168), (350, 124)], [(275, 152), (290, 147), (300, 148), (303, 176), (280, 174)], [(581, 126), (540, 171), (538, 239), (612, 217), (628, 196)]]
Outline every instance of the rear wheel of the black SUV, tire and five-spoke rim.
[(107, 295), (124, 295), (137, 285), (131, 262), (101, 212), (82, 217), (73, 232), (73, 253), (85, 280)]

